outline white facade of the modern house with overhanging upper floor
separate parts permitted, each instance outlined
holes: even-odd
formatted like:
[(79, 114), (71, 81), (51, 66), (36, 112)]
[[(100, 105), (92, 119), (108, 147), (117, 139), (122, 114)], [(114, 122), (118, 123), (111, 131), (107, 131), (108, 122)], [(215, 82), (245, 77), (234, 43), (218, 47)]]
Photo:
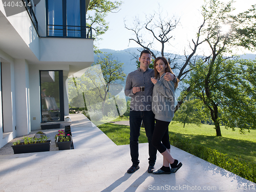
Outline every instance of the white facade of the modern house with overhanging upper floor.
[[(86, 3), (88, 6), (89, 1)], [(92, 38), (47, 37), (46, 0), (36, 5), (36, 18), (38, 31), (27, 11), (6, 16), (0, 1), (0, 147), (40, 129), (40, 70), (63, 71), (64, 111), (68, 115), (66, 80), (94, 62)]]

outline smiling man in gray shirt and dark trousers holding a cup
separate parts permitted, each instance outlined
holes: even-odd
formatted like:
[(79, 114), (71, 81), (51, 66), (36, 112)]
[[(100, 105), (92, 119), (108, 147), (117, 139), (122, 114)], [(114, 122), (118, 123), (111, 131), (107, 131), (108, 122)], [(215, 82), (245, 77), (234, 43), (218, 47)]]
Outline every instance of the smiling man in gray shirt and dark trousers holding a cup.
[[(131, 97), (130, 106), (130, 152), (132, 157), (132, 166), (127, 170), (131, 174), (136, 172), (139, 167), (139, 135), (140, 126), (143, 120), (145, 132), (148, 140), (148, 173), (155, 170), (157, 150), (152, 145), (152, 135), (155, 126), (155, 115), (152, 112), (152, 92), (154, 84), (151, 77), (154, 77), (154, 70), (148, 68), (151, 63), (151, 52), (143, 50), (139, 57), (140, 68), (129, 73), (126, 79), (124, 93)], [(167, 73), (164, 78), (173, 80), (175, 75)], [(143, 89), (144, 87), (144, 89)]]

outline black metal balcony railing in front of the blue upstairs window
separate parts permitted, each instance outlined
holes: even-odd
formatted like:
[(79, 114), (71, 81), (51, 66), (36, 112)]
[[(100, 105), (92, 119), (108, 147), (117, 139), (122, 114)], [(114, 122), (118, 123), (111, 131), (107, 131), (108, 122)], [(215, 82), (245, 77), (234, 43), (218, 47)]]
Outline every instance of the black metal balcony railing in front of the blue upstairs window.
[(47, 25), (47, 36), (92, 38), (91, 27)]

